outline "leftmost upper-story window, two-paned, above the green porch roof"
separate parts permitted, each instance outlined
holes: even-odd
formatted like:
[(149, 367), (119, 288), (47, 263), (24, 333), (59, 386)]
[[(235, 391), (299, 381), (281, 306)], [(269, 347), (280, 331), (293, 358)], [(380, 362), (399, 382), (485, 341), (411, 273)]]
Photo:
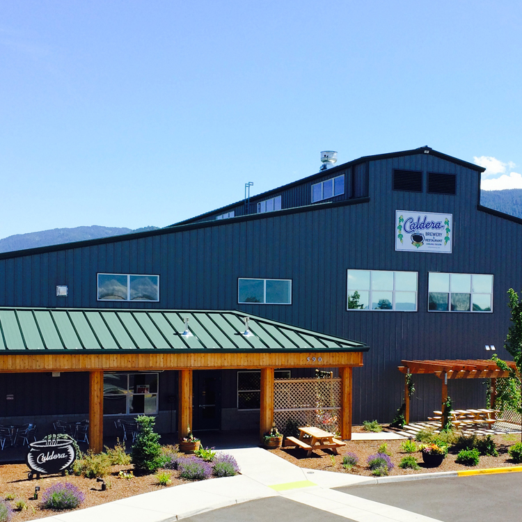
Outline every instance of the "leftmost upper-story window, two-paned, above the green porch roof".
[(159, 301), (159, 276), (98, 274), (98, 301)]

